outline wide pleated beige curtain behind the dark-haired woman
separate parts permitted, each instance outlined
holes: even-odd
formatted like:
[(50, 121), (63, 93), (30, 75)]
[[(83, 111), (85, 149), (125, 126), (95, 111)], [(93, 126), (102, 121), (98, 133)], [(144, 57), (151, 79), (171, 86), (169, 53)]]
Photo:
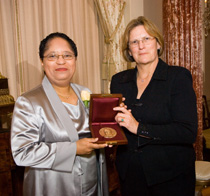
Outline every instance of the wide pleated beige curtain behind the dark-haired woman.
[(15, 98), (40, 84), (40, 41), (52, 32), (77, 45), (73, 82), (101, 92), (99, 33), (93, 0), (0, 0), (0, 72)]

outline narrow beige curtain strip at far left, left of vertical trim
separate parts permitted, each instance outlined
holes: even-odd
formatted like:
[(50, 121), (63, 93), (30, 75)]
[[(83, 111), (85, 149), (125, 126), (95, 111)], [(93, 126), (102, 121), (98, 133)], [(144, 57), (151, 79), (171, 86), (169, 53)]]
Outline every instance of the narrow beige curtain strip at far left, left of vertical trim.
[[(16, 49), (14, 40), (14, 12), (12, 0), (0, 0), (0, 72), (9, 80), (10, 94), (18, 93)], [(13, 88), (12, 88), (13, 86)]]

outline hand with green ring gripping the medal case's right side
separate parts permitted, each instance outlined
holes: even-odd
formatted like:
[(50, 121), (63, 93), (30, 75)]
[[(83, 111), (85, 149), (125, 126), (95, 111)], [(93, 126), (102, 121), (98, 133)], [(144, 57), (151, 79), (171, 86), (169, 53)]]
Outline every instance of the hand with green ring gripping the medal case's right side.
[(115, 107), (113, 110), (118, 111), (115, 116), (116, 122), (118, 122), (120, 126), (127, 128), (131, 133), (137, 134), (139, 122), (133, 117), (131, 110), (127, 110), (125, 105)]

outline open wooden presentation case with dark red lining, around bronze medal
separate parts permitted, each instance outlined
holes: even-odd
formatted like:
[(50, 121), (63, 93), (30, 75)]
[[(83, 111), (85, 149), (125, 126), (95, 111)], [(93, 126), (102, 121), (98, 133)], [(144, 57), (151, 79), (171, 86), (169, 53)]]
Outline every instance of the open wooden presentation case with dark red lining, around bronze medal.
[[(99, 138), (97, 143), (107, 143), (110, 145), (128, 143), (122, 128), (115, 121), (117, 112), (113, 110), (113, 108), (119, 106), (121, 102), (121, 94), (91, 94), (89, 125), (92, 137)], [(102, 136), (100, 134), (102, 128), (114, 129), (114, 136), (111, 138)]]

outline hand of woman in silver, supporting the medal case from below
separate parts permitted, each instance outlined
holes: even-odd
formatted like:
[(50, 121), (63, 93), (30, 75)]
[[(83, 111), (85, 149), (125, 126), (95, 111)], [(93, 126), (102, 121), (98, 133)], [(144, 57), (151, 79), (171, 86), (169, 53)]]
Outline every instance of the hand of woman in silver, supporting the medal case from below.
[(105, 148), (107, 144), (97, 144), (98, 138), (83, 138), (76, 142), (77, 155), (90, 154), (95, 149)]

